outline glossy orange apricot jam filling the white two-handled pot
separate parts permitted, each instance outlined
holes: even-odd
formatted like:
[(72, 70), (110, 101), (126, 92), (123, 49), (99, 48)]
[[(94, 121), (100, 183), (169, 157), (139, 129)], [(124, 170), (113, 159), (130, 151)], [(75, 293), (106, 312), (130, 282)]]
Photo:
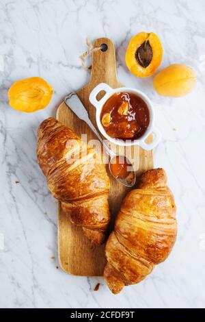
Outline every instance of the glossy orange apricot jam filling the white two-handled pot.
[(100, 121), (111, 138), (135, 140), (146, 132), (150, 113), (141, 97), (131, 92), (118, 92), (102, 106)]

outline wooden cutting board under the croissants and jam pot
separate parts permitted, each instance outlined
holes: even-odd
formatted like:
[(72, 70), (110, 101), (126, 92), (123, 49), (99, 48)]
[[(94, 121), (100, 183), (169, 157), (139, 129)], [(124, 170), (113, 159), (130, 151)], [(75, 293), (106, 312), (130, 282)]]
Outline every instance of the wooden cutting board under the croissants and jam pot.
[[(96, 126), (95, 108), (89, 102), (89, 95), (92, 89), (101, 82), (109, 84), (116, 88), (122, 86), (118, 81), (115, 64), (115, 47), (113, 42), (108, 38), (99, 38), (94, 42), (94, 47), (106, 44), (107, 51), (94, 51), (92, 54), (92, 71), (90, 82), (77, 91), (92, 123)], [(68, 94), (68, 93), (66, 93)], [(74, 115), (74, 113), (63, 102), (57, 109), (57, 119), (64, 125), (70, 127), (79, 136), (87, 134), (87, 139), (96, 139), (90, 128)], [(151, 140), (152, 138), (148, 138)], [(132, 148), (133, 149), (133, 148)], [(152, 151), (144, 151), (135, 147), (131, 153), (135, 153), (134, 165), (137, 174), (153, 168)], [(120, 153), (124, 153), (120, 149)], [(133, 154), (132, 154), (133, 156)], [(110, 210), (113, 217), (120, 209), (122, 199), (128, 193), (128, 188), (118, 184), (111, 177), (111, 190), (109, 195)], [(72, 275), (83, 276), (101, 276), (105, 267), (105, 245), (95, 246), (88, 240), (81, 227), (72, 225), (61, 209), (61, 203), (58, 203), (58, 251), (59, 264), (61, 269)]]

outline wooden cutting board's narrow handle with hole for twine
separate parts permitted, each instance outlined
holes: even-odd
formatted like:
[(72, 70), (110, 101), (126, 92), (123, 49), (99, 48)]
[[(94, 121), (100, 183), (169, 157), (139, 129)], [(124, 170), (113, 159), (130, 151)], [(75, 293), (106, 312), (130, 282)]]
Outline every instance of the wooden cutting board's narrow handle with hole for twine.
[(107, 83), (111, 87), (116, 87), (118, 77), (115, 63), (115, 45), (109, 38), (98, 38), (94, 42), (94, 48), (100, 47), (102, 44), (107, 45), (107, 50), (102, 51), (99, 49), (92, 54), (90, 84), (94, 87), (100, 79), (100, 82)]

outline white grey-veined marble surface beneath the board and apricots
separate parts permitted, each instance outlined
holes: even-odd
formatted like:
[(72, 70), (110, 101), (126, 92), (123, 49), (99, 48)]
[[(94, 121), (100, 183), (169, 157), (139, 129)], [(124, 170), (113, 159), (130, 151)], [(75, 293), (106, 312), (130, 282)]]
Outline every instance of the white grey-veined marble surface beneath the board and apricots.
[[(1, 308), (205, 307), (204, 14), (204, 0), (0, 0)], [(161, 68), (176, 62), (193, 66), (197, 86), (190, 95), (159, 97), (152, 77), (128, 72), (124, 51), (142, 30), (159, 35)], [(55, 116), (64, 96), (89, 80), (79, 60), (87, 36), (111, 38), (120, 81), (152, 99), (163, 134), (155, 166), (167, 171), (178, 206), (178, 238), (169, 258), (115, 296), (102, 278), (74, 277), (56, 268), (56, 203), (36, 161), (40, 121)], [(8, 105), (8, 88), (31, 76), (53, 85), (53, 99), (40, 112), (17, 112)]]

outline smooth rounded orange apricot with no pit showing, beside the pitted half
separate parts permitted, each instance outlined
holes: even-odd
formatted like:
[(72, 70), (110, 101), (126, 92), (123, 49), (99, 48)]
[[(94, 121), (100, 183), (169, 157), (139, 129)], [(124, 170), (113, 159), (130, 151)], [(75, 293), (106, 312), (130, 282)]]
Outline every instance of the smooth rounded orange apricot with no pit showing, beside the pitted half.
[(153, 80), (156, 92), (162, 96), (181, 97), (193, 90), (195, 71), (184, 64), (172, 64), (160, 71)]

